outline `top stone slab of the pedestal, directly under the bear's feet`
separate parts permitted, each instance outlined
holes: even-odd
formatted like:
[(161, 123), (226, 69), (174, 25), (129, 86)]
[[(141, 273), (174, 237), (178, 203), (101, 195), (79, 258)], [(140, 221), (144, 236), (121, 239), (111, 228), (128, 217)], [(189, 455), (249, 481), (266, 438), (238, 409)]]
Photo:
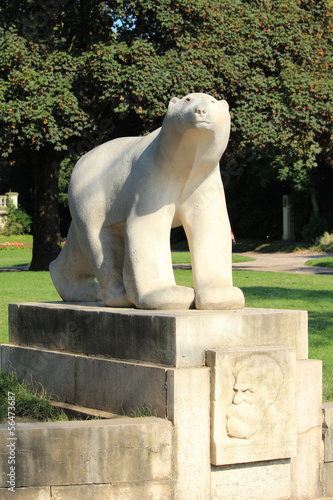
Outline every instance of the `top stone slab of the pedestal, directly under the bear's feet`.
[(9, 305), (12, 344), (166, 366), (204, 366), (205, 351), (286, 345), (307, 358), (307, 312), (140, 311), (91, 304)]

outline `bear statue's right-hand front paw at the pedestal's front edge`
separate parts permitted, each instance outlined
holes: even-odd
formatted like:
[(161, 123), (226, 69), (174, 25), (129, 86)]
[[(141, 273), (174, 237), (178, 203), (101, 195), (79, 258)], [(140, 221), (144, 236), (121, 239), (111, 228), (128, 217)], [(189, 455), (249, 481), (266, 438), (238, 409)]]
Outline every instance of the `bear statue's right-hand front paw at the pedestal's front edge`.
[(235, 286), (206, 286), (196, 292), (196, 309), (243, 309), (244, 305), (243, 292)]

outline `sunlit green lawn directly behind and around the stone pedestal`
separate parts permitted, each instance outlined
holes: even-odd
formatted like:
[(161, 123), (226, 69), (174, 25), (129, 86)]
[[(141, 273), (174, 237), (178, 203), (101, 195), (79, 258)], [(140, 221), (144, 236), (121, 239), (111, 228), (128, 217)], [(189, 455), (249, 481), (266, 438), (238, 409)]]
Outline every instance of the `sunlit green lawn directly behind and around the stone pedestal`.
[[(323, 400), (332, 401), (332, 277), (255, 271), (234, 271), (233, 276), (235, 285), (244, 292), (247, 307), (304, 309), (309, 312), (309, 357), (323, 360)], [(193, 286), (192, 271), (175, 270), (175, 277), (178, 284)], [(2, 343), (8, 342), (9, 302), (59, 300), (48, 272), (0, 273), (0, 298)]]

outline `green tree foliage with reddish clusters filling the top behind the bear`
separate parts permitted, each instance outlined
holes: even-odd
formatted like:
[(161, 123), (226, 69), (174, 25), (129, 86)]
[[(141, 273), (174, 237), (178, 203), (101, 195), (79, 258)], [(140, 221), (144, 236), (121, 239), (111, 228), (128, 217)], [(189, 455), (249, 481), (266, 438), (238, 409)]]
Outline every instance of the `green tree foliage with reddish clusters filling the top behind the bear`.
[(174, 95), (229, 102), (227, 176), (315, 200), (333, 164), (332, 10), (328, 0), (4, 0), (0, 153), (34, 170), (34, 248), (53, 248), (43, 266), (59, 248), (59, 170), (63, 182), (98, 143), (160, 126)]

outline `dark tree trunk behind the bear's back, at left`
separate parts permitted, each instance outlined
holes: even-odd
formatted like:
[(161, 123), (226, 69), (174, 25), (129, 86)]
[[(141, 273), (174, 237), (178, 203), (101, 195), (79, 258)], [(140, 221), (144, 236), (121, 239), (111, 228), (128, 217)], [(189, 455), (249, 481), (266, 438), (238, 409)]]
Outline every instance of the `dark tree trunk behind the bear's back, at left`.
[(58, 178), (54, 152), (40, 151), (32, 160), (34, 179), (33, 251), (30, 271), (48, 271), (61, 249)]

